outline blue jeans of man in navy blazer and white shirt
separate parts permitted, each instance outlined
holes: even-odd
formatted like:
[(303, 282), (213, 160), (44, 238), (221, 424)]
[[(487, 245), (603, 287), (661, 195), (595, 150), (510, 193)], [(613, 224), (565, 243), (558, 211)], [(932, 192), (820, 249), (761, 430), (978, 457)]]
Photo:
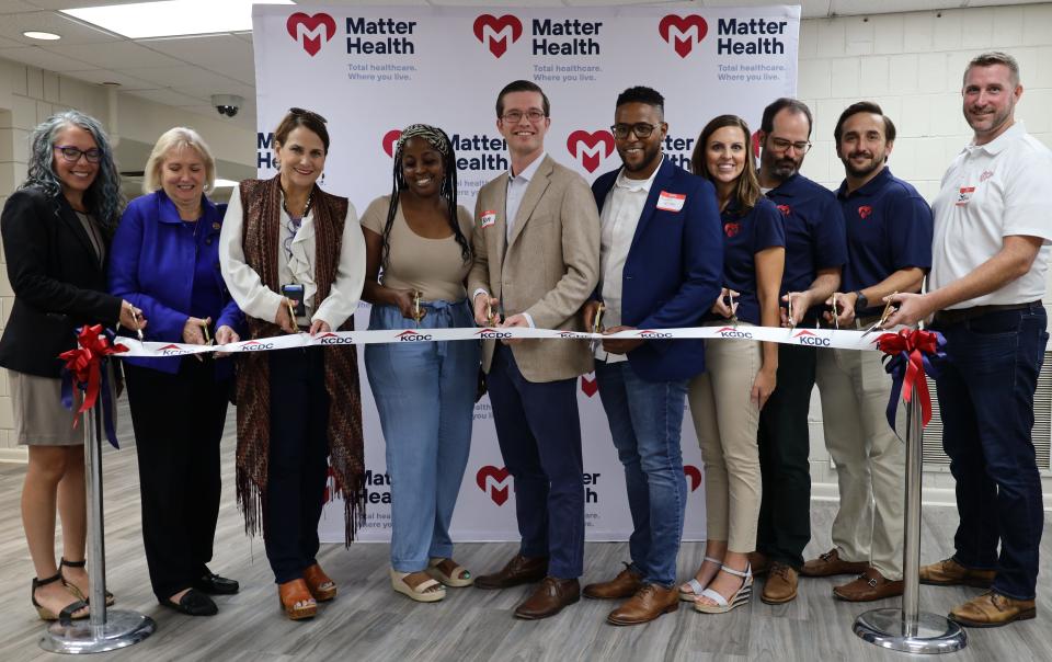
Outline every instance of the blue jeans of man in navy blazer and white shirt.
[(633, 527), (628, 539), (631, 568), (645, 583), (672, 586), (687, 506), (679, 448), (687, 380), (645, 381), (627, 361), (596, 361), (595, 377), (625, 466)]

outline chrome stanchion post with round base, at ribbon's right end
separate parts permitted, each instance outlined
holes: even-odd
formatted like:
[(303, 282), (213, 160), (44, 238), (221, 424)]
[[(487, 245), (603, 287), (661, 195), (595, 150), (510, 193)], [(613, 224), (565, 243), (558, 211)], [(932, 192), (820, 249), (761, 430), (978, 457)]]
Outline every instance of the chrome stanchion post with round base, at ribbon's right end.
[(906, 653), (949, 653), (968, 646), (958, 624), (921, 610), (921, 472), (924, 419), (921, 397), (913, 386), (906, 409), (906, 512), (902, 550), (902, 608), (871, 609), (855, 619), (856, 635)]

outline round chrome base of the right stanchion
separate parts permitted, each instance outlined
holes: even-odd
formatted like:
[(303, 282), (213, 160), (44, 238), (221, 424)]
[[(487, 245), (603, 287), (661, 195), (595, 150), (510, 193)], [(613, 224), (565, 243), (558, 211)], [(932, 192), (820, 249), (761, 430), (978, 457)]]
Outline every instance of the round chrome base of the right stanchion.
[(945, 616), (921, 612), (915, 632), (908, 631), (902, 609), (866, 612), (855, 619), (855, 634), (881, 648), (905, 653), (950, 653), (968, 646), (963, 628)]

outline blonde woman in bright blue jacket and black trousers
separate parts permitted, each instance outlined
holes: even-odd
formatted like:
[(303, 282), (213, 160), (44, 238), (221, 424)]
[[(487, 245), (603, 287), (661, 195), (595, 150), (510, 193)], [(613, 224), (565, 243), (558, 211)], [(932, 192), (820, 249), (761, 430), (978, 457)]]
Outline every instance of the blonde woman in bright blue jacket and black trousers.
[[(141, 308), (146, 340), (237, 342), (243, 316), (219, 272), (226, 205), (205, 195), (216, 179), (208, 146), (193, 129), (165, 132), (146, 163), (146, 195), (132, 201), (113, 240), (110, 290)], [(219, 516), (219, 440), (227, 416), (229, 359), (214, 354), (125, 358), (139, 458), (142, 539), (160, 604), (211, 616), (206, 593), (237, 593), (213, 574)]]

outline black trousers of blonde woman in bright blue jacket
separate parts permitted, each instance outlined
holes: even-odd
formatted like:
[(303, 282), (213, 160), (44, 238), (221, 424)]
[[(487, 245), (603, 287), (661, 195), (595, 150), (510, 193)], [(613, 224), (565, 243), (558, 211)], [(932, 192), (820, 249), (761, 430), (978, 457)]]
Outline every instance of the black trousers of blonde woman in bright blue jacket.
[(229, 381), (211, 359), (183, 358), (175, 375), (125, 364), (139, 459), (142, 541), (159, 600), (207, 572), (219, 517), (219, 441)]

